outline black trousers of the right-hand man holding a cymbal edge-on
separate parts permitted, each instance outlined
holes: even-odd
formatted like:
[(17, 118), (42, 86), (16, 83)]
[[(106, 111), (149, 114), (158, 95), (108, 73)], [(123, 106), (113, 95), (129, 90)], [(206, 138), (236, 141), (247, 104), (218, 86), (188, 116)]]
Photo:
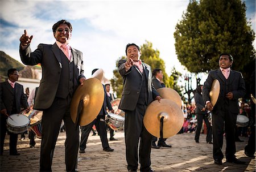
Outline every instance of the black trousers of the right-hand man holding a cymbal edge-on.
[(214, 160), (222, 160), (224, 155), (222, 153), (224, 122), (225, 122), (225, 137), (226, 137), (226, 159), (232, 160), (236, 153), (235, 143), (235, 128), (236, 128), (237, 114), (229, 111), (229, 106), (224, 106), (221, 110), (213, 111), (213, 158)]

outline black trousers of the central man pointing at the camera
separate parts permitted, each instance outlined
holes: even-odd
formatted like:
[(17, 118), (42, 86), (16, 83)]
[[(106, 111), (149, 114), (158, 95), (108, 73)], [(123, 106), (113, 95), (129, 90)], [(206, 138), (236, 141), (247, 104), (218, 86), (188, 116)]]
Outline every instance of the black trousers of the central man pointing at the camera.
[(152, 135), (146, 130), (143, 124), (146, 108), (146, 105), (137, 104), (135, 110), (125, 111), (125, 145), (128, 170), (137, 170), (138, 168), (138, 145), (139, 162), (141, 164), (140, 170), (150, 170)]

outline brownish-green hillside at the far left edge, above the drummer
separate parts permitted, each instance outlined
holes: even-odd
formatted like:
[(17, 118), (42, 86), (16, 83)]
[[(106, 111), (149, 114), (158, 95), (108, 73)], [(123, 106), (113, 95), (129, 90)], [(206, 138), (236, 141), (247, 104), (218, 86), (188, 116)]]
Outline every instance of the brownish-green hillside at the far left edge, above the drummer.
[(18, 71), (22, 70), (25, 66), (22, 63), (16, 61), (5, 52), (0, 51), (0, 75), (1, 81), (7, 78), (7, 70), (9, 68), (16, 68)]

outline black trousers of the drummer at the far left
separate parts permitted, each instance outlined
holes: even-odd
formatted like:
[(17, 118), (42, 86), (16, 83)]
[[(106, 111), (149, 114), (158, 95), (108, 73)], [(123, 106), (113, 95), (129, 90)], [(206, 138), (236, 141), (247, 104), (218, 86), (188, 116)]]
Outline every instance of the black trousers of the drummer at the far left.
[[(6, 136), (6, 132), (7, 132), (7, 127), (6, 127), (6, 117), (3, 114), (0, 114), (1, 118), (0, 118), (0, 123), (1, 123), (1, 131), (0, 131), (0, 154), (3, 154), (3, 145), (5, 143), (5, 136)], [(10, 142), (9, 142), (9, 148), (10, 148), (10, 154), (14, 154), (17, 153), (17, 140), (18, 140), (18, 134), (14, 134), (12, 132), (9, 132), (10, 134)]]

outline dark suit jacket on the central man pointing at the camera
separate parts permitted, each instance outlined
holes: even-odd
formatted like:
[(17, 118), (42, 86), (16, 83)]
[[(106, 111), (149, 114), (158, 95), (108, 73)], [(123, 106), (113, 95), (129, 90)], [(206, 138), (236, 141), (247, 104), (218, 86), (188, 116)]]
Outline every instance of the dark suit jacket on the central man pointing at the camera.
[[(121, 101), (119, 104), (119, 109), (122, 110), (134, 110), (139, 93), (142, 87), (142, 74), (139, 72), (138, 67), (132, 66), (128, 71), (125, 71), (126, 60), (121, 60), (118, 62), (118, 70), (123, 78), (123, 92)], [(144, 72), (147, 78), (147, 89), (148, 89), (148, 100), (147, 104), (150, 104), (156, 96), (159, 96), (152, 84), (152, 73), (151, 67), (146, 63), (142, 63)], [(153, 99), (154, 98), (154, 99)]]

